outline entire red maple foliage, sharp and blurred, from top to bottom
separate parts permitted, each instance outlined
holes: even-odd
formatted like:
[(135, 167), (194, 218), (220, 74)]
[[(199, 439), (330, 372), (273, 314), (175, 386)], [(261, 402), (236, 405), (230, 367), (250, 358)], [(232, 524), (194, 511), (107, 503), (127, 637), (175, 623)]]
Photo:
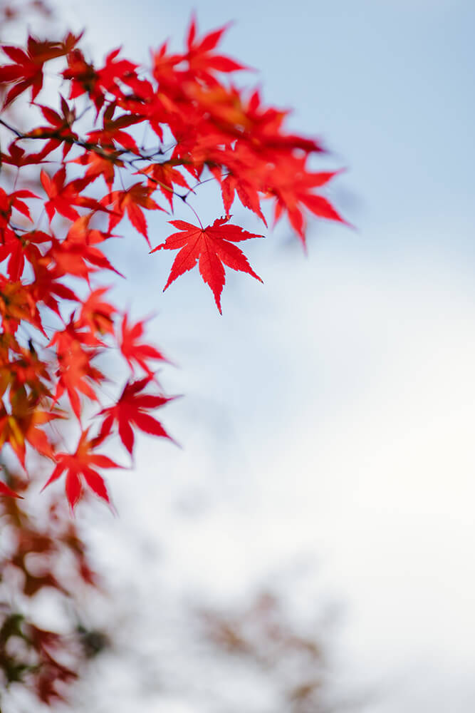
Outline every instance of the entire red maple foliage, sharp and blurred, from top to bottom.
[[(27, 10), (48, 16), (42, 0), (0, 0), (2, 34)], [(71, 32), (0, 43), (0, 682), (48, 706), (108, 646), (81, 622), (98, 577), (68, 506), (91, 493), (111, 503), (114, 438), (131, 458), (137, 431), (172, 440), (157, 417), (173, 398), (157, 380), (167, 356), (104, 284), (123, 277), (106, 255), (113, 239), (137, 232), (150, 260), (177, 251), (163, 289), (197, 265), (221, 312), (226, 268), (261, 281), (236, 244), (262, 237), (269, 218), (286, 215), (303, 246), (308, 215), (345, 222), (320, 192), (338, 171), (313, 169), (323, 146), (289, 133), (288, 112), (259, 91), (235, 86), (247, 68), (219, 52), (225, 30), (200, 37), (192, 19), (184, 50), (164, 43), (147, 67), (117, 49), (93, 63)], [(196, 203), (207, 182), (217, 191), (212, 225)], [(239, 203), (263, 227), (236, 225)], [(160, 237), (149, 211), (163, 219)], [(66, 499), (48, 488), (32, 507), (56, 481)], [(36, 619), (43, 596), (68, 605), (66, 629)], [(210, 639), (231, 652), (229, 622), (205, 618)], [(279, 645), (295, 642), (285, 635)], [(267, 665), (257, 648), (255, 658)], [(309, 681), (291, 682), (292, 709), (315, 707), (320, 683)]]

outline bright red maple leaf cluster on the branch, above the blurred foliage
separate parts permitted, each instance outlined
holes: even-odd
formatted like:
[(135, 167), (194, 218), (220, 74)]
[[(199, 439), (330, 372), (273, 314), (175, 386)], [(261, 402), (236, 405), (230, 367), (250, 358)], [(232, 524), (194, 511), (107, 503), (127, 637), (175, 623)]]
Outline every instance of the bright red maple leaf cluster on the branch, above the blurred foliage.
[[(120, 467), (104, 453), (111, 438), (130, 456), (137, 429), (169, 438), (150, 413), (170, 400), (157, 381), (165, 356), (103, 286), (118, 273), (105, 255), (118, 226), (129, 222), (149, 252), (179, 251), (164, 289), (198, 265), (221, 312), (225, 267), (261, 280), (237, 245), (261, 236), (230, 222), (236, 200), (265, 226), (269, 201), (303, 245), (306, 215), (345, 222), (318, 193), (338, 172), (309, 167), (320, 143), (288, 133), (286, 111), (235, 86), (246, 67), (217, 50), (225, 30), (199, 37), (192, 19), (184, 51), (164, 43), (148, 67), (119, 49), (95, 64), (71, 32), (1, 46), (0, 447), (26, 470), (29, 451), (48, 459), (46, 485), (63, 477), (71, 508), (87, 488), (110, 502), (101, 471)], [(204, 227), (190, 200), (207, 180), (224, 215)], [(170, 220), (175, 232), (152, 247), (148, 213), (176, 207), (198, 225)], [(105, 353), (128, 369), (112, 403), (103, 403)], [(71, 419), (78, 436), (68, 448)], [(1, 481), (0, 493), (14, 494)]]

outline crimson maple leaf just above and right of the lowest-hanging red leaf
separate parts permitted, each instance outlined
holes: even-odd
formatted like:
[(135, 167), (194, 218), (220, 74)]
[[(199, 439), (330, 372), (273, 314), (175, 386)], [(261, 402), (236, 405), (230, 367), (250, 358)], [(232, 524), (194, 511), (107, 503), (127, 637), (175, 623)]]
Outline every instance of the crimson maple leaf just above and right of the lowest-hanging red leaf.
[[(118, 422), (120, 440), (127, 451), (132, 455), (134, 446), (134, 431), (132, 426), (137, 426), (140, 431), (153, 436), (170, 438), (160, 421), (147, 414), (145, 409), (158, 409), (165, 406), (173, 397), (152, 394), (141, 394), (140, 392), (152, 381), (152, 376), (145, 376), (145, 379), (138, 381), (127, 381), (120, 398), (114, 406), (103, 409), (100, 414), (105, 416), (100, 429), (100, 437), (108, 436), (113, 427), (114, 421)], [(170, 438), (172, 440), (172, 438)]]

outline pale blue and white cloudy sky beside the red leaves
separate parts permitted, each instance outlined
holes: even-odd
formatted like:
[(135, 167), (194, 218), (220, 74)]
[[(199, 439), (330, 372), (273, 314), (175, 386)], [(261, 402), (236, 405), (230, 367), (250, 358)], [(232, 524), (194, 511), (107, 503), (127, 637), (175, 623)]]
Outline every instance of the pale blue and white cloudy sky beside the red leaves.
[[(192, 9), (203, 31), (234, 21), (223, 48), (259, 70), (246, 81), (347, 169), (329, 195), (355, 230), (313, 224), (308, 257), (285, 228), (250, 245), (264, 284), (229, 275), (223, 317), (196, 275), (164, 295), (166, 256), (122, 249), (117, 294), (157, 314), (150, 335), (178, 365), (163, 383), (185, 396), (165, 423), (183, 448), (142, 439), (135, 472), (110, 478), (120, 518), (98, 537), (156, 539), (170, 586), (213, 597), (313, 563), (299, 605), (339, 602), (340, 667), (377, 690), (365, 713), (471, 713), (475, 6), (61, 12), (96, 56), (121, 45), (146, 62), (168, 36), (181, 46)], [(210, 193), (200, 210), (214, 220), (221, 205)]]

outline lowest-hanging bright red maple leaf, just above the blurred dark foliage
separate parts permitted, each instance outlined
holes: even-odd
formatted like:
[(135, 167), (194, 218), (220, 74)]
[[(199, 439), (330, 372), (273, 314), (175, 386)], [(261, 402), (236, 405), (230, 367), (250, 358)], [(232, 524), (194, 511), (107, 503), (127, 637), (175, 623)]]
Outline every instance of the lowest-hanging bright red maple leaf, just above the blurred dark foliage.
[(106, 503), (110, 503), (104, 479), (94, 470), (93, 466), (98, 468), (122, 467), (108, 458), (108, 456), (93, 452), (94, 448), (102, 442), (102, 439), (89, 438), (88, 432), (89, 429), (86, 429), (80, 435), (75, 453), (56, 453), (56, 467), (43, 486), (44, 490), (66, 471), (66, 498), (68, 498), (68, 503), (72, 509), (83, 491), (83, 479), (97, 496), (103, 498)]

